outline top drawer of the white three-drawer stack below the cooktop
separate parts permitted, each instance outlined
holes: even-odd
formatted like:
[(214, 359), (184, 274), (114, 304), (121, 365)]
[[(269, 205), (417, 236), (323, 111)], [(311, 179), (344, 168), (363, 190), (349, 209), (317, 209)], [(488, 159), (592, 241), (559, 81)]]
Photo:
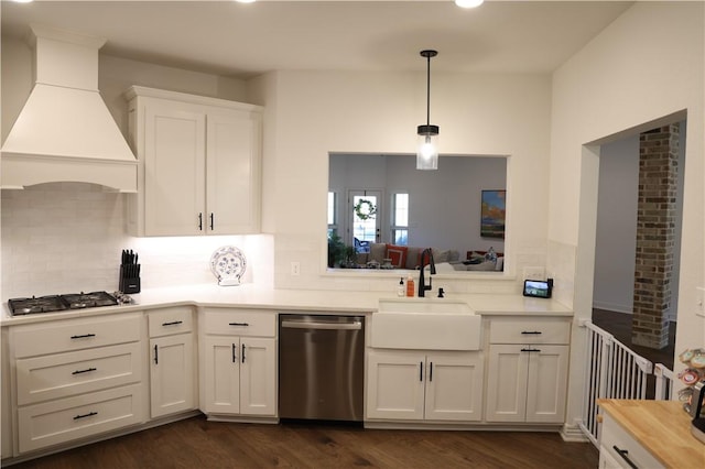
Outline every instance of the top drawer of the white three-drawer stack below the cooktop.
[(140, 340), (141, 313), (17, 326), (14, 356), (33, 357)]

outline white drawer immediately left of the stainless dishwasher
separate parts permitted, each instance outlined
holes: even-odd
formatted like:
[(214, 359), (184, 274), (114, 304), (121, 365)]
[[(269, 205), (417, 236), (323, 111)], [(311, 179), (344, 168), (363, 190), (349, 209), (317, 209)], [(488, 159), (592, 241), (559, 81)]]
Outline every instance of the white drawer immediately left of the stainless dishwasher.
[(220, 336), (276, 335), (276, 315), (268, 310), (206, 308), (204, 332)]

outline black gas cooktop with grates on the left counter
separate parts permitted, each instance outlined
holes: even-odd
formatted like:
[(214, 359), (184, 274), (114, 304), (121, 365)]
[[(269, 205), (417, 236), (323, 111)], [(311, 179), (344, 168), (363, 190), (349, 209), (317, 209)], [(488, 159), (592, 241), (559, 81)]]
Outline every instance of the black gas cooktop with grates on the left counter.
[(115, 306), (117, 304), (118, 299), (108, 292), (68, 293), (64, 295), (32, 296), (31, 298), (12, 298), (8, 301), (8, 306), (10, 306), (10, 312), (13, 316)]

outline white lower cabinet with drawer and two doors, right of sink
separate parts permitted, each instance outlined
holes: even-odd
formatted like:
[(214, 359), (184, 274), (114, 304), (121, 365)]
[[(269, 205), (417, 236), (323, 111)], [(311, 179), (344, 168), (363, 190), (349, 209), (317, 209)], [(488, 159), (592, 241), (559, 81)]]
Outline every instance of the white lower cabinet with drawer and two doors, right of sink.
[(563, 423), (570, 320), (490, 320), (487, 422)]

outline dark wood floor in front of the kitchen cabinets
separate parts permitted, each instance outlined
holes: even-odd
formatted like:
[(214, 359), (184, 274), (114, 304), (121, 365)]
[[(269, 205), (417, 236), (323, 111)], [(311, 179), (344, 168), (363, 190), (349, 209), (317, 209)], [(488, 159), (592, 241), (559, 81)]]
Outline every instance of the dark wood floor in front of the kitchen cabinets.
[(13, 466), (150, 468), (597, 468), (589, 443), (557, 433), (377, 430), (230, 424), (203, 416)]

